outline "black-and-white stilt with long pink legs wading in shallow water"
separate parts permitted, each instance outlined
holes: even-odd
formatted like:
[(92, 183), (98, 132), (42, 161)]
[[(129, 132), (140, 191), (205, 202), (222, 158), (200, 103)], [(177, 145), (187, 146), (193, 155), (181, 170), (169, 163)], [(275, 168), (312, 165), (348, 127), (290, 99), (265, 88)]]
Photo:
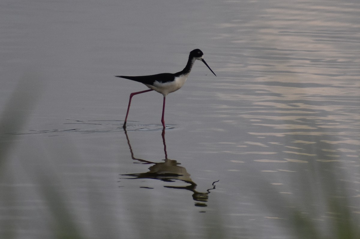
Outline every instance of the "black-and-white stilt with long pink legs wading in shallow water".
[[(140, 92), (134, 92), (134, 93), (130, 94), (129, 106), (127, 106), (127, 112), (126, 112), (126, 117), (125, 117), (125, 122), (124, 122), (123, 127), (124, 128), (126, 127), (126, 121), (127, 121), (127, 116), (129, 114), (131, 98), (134, 95), (155, 90), (156, 92), (159, 92), (164, 96), (164, 101), (163, 101), (163, 105), (162, 105), (161, 123), (162, 123), (162, 126), (165, 128), (165, 121), (164, 121), (165, 97), (169, 93), (180, 89), (185, 84), (185, 81), (188, 78), (188, 75), (191, 71), (191, 68), (194, 65), (195, 60), (201, 60), (211, 70), (210, 66), (208, 66), (206, 64), (206, 61), (204, 60), (203, 57), (204, 57), (204, 53), (201, 50), (195, 49), (195, 50), (191, 51), (190, 55), (189, 55), (188, 63), (186, 64), (184, 70), (179, 71), (175, 74), (161, 73), (161, 74), (156, 74), (156, 75), (145, 75), (145, 76), (116, 75), (116, 77), (121, 77), (121, 78), (129, 79), (129, 80), (138, 81), (138, 82), (143, 83), (144, 85), (148, 86), (148, 88), (150, 88), (149, 90), (143, 90)], [(215, 75), (215, 73), (212, 70), (211, 70), (211, 72)]]

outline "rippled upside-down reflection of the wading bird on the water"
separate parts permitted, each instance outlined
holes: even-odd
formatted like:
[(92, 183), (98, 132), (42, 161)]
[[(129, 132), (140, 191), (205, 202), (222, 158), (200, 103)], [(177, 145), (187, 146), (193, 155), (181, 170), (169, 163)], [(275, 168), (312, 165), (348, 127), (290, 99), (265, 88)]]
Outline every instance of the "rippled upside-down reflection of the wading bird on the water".
[(154, 163), (151, 161), (147, 161), (144, 159), (138, 159), (134, 157), (134, 153), (132, 152), (131, 144), (129, 137), (127, 136), (127, 132), (125, 130), (125, 135), (127, 139), (127, 143), (130, 148), (131, 158), (134, 160), (138, 160), (144, 164), (154, 164), (149, 167), (149, 171), (146, 173), (132, 173), (132, 174), (121, 174), (123, 176), (131, 176), (131, 179), (139, 179), (139, 178), (150, 178), (150, 179), (159, 179), (164, 182), (174, 182), (175, 180), (180, 180), (185, 183), (189, 183), (188, 186), (164, 186), (166, 188), (175, 188), (175, 189), (186, 189), (193, 192), (193, 199), (197, 201), (195, 206), (198, 207), (206, 207), (207, 205), (204, 202), (208, 200), (208, 194), (210, 190), (215, 189), (215, 183), (212, 183), (212, 188), (207, 189), (207, 192), (198, 192), (196, 191), (197, 184), (192, 181), (190, 178), (190, 174), (186, 171), (186, 168), (180, 167), (180, 163), (177, 163), (176, 160), (168, 159), (166, 152), (166, 143), (165, 143), (165, 129), (162, 130), (162, 140), (164, 144), (164, 153), (165, 159), (161, 163)]

